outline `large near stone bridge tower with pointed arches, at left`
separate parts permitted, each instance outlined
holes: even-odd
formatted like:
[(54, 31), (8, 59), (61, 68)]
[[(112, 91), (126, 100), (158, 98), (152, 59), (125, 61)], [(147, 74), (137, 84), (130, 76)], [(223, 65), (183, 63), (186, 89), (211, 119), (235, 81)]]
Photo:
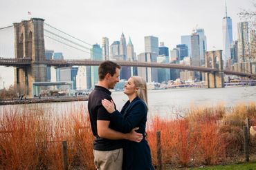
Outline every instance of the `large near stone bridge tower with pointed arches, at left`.
[(46, 81), (44, 19), (33, 18), (15, 27), (15, 58), (30, 58), (31, 65), (15, 67), (15, 85), (19, 94), (32, 96), (33, 82)]

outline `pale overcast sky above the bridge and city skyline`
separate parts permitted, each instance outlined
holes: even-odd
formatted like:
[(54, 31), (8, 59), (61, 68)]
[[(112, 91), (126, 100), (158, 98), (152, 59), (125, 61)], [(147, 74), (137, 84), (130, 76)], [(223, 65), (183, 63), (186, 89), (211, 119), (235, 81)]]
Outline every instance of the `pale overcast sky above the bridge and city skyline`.
[[(237, 23), (242, 21), (238, 13), (254, 10), (253, 2), (227, 0), (233, 39), (237, 39)], [(181, 35), (191, 34), (194, 28), (205, 30), (207, 50), (222, 50), (224, 16), (225, 0), (0, 1), (0, 28), (37, 17), (78, 39), (100, 45), (103, 36), (111, 45), (120, 41), (123, 32), (127, 43), (131, 37), (136, 54), (144, 52), (144, 36), (157, 36), (171, 50), (181, 43)], [(0, 66), (0, 77), (0, 89), (3, 81), (6, 87), (13, 84), (13, 68)]]

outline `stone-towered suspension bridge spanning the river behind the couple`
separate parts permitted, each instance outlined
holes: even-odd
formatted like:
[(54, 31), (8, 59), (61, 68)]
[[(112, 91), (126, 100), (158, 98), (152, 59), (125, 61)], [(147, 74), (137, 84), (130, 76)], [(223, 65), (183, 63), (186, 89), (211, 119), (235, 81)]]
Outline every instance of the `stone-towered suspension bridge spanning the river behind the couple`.
[[(0, 56), (0, 65), (14, 67), (15, 85), (19, 88), (28, 89), (27, 94), (29, 96), (31, 96), (33, 92), (33, 83), (46, 82), (47, 66), (93, 66), (100, 65), (100, 63), (102, 62), (93, 61), (90, 59), (46, 59), (44, 39), (48, 36), (44, 35), (44, 32), (52, 32), (44, 29), (44, 25), (44, 19), (37, 18), (33, 18), (28, 21), (21, 21), (21, 23), (13, 23), (13, 25), (10, 27), (14, 27), (15, 29), (15, 56)], [(0, 28), (0, 30), (8, 29), (10, 27)], [(118, 63), (121, 66), (156, 67), (175, 70), (190, 70), (196, 72), (204, 72), (205, 82), (209, 88), (224, 87), (224, 74), (237, 75), (248, 78), (256, 77), (256, 74), (252, 74), (250, 72), (234, 72), (230, 70), (223, 70), (221, 50), (205, 52), (205, 67), (180, 65), (174, 63), (149, 63), (138, 61), (116, 61), (116, 63)]]

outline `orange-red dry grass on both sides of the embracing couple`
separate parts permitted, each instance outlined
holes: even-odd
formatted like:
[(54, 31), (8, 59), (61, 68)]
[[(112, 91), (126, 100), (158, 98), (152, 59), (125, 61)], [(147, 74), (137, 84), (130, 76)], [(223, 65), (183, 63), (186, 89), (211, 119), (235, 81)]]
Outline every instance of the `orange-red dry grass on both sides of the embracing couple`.
[[(164, 164), (219, 164), (226, 156), (242, 155), (240, 125), (244, 125), (247, 116), (255, 123), (255, 108), (255, 103), (250, 107), (241, 104), (230, 114), (220, 105), (214, 109), (193, 108), (185, 118), (176, 120), (151, 118), (147, 123), (147, 140), (153, 164), (157, 164), (156, 131), (161, 131)], [(0, 169), (62, 169), (63, 140), (68, 142), (70, 169), (95, 169), (86, 106), (61, 108), (63, 114), (58, 115), (53, 113), (54, 109), (48, 105), (3, 109)], [(255, 138), (252, 140), (255, 143)]]

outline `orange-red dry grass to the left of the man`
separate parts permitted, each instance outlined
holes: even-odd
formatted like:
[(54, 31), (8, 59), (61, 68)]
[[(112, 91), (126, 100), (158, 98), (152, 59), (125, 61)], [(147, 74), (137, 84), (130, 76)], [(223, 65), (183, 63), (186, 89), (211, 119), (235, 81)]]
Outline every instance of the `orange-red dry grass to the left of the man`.
[(62, 169), (63, 140), (68, 142), (70, 167), (94, 169), (93, 136), (84, 106), (58, 116), (50, 114), (50, 109), (4, 111), (0, 118), (0, 169)]

